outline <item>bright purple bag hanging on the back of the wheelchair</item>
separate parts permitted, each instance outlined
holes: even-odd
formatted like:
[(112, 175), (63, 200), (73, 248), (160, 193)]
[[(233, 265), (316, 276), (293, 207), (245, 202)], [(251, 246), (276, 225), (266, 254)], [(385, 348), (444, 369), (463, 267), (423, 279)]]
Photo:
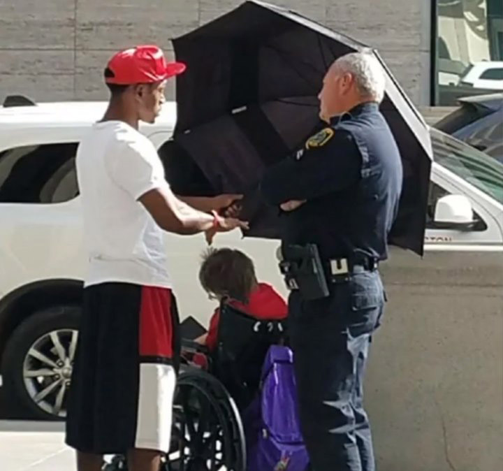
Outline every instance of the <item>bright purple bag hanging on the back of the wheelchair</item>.
[(305, 471), (309, 456), (300, 433), (291, 349), (270, 347), (261, 384), (258, 398), (243, 413), (247, 471)]

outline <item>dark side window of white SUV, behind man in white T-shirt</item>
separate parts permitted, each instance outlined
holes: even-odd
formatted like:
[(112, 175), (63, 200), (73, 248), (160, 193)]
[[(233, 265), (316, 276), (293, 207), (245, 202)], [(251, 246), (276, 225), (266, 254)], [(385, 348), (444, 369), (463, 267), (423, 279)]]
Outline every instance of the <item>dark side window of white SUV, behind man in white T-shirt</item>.
[(0, 152), (0, 203), (62, 203), (78, 195), (77, 143)]

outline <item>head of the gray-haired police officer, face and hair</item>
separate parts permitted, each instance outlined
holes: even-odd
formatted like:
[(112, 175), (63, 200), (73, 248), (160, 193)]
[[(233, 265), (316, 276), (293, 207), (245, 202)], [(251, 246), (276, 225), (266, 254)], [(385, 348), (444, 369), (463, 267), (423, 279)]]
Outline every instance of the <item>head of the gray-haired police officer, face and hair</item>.
[(386, 78), (377, 58), (368, 52), (351, 52), (328, 69), (319, 94), (320, 116), (328, 120), (360, 103), (384, 98)]

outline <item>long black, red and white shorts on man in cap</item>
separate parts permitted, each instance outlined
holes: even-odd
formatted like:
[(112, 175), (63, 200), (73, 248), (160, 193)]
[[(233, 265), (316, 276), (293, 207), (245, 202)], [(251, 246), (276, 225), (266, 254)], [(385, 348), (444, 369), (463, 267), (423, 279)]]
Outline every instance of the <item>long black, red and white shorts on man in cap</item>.
[(178, 324), (170, 289), (103, 283), (84, 290), (68, 445), (95, 454), (168, 451)]

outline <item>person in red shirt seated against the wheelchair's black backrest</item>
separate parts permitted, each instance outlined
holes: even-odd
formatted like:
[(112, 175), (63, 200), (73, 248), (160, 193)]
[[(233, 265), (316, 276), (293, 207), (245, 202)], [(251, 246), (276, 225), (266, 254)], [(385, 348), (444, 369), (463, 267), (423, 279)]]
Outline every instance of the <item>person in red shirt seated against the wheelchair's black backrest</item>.
[(212, 374), (245, 407), (258, 390), (268, 348), (284, 338), (286, 302), (270, 284), (258, 282), (253, 261), (237, 249), (209, 249), (199, 280), (219, 307), (196, 342), (207, 347)]

